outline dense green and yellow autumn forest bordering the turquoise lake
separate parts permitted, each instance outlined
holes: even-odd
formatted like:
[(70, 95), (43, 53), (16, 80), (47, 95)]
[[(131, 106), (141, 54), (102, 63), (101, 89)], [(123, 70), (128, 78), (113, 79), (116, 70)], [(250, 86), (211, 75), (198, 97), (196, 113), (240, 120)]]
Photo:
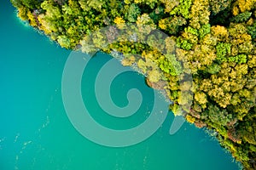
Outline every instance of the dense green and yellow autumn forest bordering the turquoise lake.
[[(21, 20), (63, 48), (81, 48), (87, 53), (100, 48), (108, 54), (122, 54), (123, 65), (137, 65), (151, 87), (166, 91), (174, 114), (182, 114), (196, 127), (213, 130), (219, 143), (241, 161), (244, 169), (256, 169), (256, 0), (11, 3)], [(152, 46), (112, 42), (125, 24), (134, 24), (151, 35), (147, 41)], [(159, 47), (166, 54), (154, 48), (158, 34), (151, 34), (144, 25), (168, 35), (162, 38), (164, 46)], [(103, 27), (108, 28), (107, 37), (99, 31)], [(139, 37), (133, 33), (131, 37)], [(102, 48), (103, 42), (112, 43)], [(188, 75), (191, 81), (180, 79)]]

